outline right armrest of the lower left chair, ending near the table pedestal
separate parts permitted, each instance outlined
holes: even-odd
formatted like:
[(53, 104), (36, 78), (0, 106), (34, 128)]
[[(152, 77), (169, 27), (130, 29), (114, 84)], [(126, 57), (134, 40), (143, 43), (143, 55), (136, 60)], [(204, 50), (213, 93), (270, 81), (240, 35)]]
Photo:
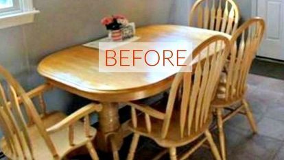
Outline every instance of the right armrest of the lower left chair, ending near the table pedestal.
[(61, 120), (57, 124), (54, 124), (54, 126), (49, 127), (47, 129), (47, 133), (55, 133), (56, 131), (60, 131), (61, 129), (66, 128), (67, 126), (70, 126), (74, 122), (77, 122), (81, 118), (84, 118), (84, 116), (87, 116), (88, 114), (91, 114), (95, 111), (101, 111), (101, 110), (102, 110), (101, 104), (90, 103), (82, 107), (81, 109), (78, 109), (78, 111), (75, 111), (67, 118), (64, 118), (64, 120)]

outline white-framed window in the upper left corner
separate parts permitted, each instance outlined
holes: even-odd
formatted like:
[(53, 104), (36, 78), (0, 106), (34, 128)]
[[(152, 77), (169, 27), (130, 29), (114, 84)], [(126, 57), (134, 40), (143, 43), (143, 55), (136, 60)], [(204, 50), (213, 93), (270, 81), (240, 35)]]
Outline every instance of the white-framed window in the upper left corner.
[(0, 29), (32, 23), (38, 12), (32, 0), (0, 0)]

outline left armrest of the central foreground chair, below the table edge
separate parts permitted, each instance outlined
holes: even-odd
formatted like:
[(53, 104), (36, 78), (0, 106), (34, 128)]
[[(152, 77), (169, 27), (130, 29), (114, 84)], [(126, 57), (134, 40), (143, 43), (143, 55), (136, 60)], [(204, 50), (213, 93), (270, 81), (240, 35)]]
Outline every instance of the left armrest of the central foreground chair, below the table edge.
[(134, 107), (135, 109), (144, 112), (145, 114), (149, 114), (150, 116), (154, 118), (158, 118), (160, 120), (165, 119), (165, 114), (161, 111), (157, 111), (156, 109), (153, 109), (149, 105), (141, 105), (141, 104), (135, 104), (135, 103), (126, 103), (126, 105), (130, 105), (131, 107)]

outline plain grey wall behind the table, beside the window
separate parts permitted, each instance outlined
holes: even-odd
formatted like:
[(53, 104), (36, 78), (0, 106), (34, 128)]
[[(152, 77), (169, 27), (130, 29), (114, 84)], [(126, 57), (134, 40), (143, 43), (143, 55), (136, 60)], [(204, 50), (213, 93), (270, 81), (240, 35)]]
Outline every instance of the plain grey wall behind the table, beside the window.
[[(43, 83), (40, 59), (68, 46), (106, 36), (100, 19), (124, 14), (137, 26), (168, 23), (172, 0), (34, 0), (35, 22), (0, 30), (0, 64), (28, 90)], [(56, 90), (46, 96), (49, 109), (68, 111), (73, 97)]]

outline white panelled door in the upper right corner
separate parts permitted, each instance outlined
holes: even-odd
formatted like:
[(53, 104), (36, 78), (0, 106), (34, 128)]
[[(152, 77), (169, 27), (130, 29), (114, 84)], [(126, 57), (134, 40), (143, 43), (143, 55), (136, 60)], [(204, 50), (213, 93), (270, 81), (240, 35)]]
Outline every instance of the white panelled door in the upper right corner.
[(284, 0), (258, 0), (257, 16), (265, 19), (266, 31), (257, 55), (284, 60)]

